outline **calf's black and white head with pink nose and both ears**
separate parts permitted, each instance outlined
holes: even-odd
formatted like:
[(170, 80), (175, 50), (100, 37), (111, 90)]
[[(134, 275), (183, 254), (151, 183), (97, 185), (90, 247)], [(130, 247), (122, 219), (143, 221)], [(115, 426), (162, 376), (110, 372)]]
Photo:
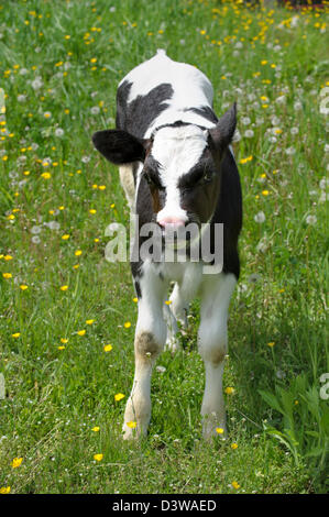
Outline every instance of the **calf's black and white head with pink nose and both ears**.
[[(142, 140), (121, 130), (98, 131), (95, 147), (121, 165), (140, 161), (139, 191), (151, 199), (151, 218), (164, 230), (209, 221), (220, 191), (220, 164), (237, 125), (232, 106), (212, 129), (168, 124)], [(139, 196), (139, 194), (138, 194)], [(139, 206), (139, 204), (138, 204)]]

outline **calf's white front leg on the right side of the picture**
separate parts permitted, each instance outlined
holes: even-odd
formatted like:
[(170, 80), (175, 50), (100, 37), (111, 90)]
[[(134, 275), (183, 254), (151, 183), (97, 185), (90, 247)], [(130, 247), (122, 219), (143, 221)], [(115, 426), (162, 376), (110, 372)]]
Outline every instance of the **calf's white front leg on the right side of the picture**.
[(228, 309), (237, 284), (232, 274), (206, 275), (201, 292), (201, 320), (198, 331), (199, 352), (205, 362), (206, 385), (201, 406), (204, 437), (226, 431), (222, 395), (224, 355), (228, 350)]

